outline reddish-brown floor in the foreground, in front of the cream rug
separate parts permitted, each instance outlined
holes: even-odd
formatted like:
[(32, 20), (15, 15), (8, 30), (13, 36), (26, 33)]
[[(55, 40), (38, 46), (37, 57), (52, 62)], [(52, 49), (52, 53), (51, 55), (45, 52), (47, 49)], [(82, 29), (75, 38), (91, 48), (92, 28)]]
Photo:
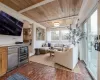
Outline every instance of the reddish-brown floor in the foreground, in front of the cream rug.
[(0, 77), (0, 80), (6, 80), (7, 77), (14, 73), (20, 73), (30, 80), (85, 80), (83, 75), (71, 71), (65, 71), (43, 64), (29, 62), (13, 71)]

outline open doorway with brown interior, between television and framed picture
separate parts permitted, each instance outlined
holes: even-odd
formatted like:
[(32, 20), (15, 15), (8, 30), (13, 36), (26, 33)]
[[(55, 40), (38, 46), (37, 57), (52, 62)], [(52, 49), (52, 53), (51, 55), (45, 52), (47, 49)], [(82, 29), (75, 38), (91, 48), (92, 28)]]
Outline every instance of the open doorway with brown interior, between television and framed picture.
[(32, 39), (33, 39), (33, 24), (25, 22), (23, 28), (23, 42), (24, 44), (27, 44), (29, 47), (29, 56), (31, 56), (33, 53)]

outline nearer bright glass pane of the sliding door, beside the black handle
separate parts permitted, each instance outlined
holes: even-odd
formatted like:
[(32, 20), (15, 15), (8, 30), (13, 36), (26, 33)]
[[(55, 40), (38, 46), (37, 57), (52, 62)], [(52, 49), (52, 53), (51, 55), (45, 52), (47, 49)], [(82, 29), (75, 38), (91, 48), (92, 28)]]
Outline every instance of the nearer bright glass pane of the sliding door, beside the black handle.
[(98, 52), (94, 48), (95, 38), (98, 35), (97, 10), (88, 20), (88, 69), (92, 76), (97, 79)]

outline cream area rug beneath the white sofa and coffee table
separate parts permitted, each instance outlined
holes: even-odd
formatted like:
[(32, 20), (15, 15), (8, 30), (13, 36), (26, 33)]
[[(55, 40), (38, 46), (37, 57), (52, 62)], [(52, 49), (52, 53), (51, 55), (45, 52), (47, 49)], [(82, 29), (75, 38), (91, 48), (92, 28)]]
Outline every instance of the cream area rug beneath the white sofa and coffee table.
[(50, 54), (34, 55), (34, 56), (30, 57), (30, 61), (48, 65), (48, 66), (51, 66), (54, 68), (82, 74), (84, 76), (85, 80), (94, 80), (88, 73), (88, 70), (86, 69), (86, 65), (83, 61), (79, 60), (77, 65), (75, 66), (75, 68), (73, 70), (70, 70), (64, 66), (55, 64), (53, 58), (54, 58), (54, 56), (50, 57)]

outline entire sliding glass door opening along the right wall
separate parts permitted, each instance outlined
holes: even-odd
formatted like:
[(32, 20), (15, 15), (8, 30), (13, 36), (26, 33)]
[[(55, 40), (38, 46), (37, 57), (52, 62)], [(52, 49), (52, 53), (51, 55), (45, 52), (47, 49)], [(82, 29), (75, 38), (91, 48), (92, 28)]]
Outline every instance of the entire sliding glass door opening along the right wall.
[(95, 50), (95, 38), (98, 35), (98, 26), (97, 26), (97, 10), (88, 18), (84, 23), (84, 32), (86, 37), (84, 38), (84, 61), (87, 65), (87, 68), (91, 75), (97, 79), (97, 69), (98, 69), (98, 52)]

